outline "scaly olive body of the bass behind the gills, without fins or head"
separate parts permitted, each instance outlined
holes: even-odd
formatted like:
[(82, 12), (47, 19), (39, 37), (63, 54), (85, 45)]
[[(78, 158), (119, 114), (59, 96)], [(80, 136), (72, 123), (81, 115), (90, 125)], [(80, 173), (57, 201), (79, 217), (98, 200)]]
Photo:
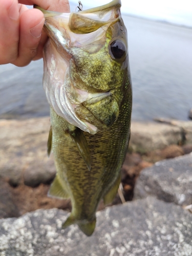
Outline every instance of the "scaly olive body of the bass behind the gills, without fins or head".
[[(57, 173), (64, 175), (72, 200), (72, 215), (76, 220), (94, 220), (101, 198), (110, 190), (119, 176), (130, 136), (131, 87), (129, 79), (125, 90), (126, 98), (121, 106), (117, 121), (108, 131), (96, 135), (84, 133), (91, 153), (91, 170), (80, 157), (71, 137), (66, 136), (68, 123), (51, 110), (53, 128), (53, 152)], [(66, 129), (65, 129), (66, 126)], [(64, 166), (63, 166), (64, 165)]]

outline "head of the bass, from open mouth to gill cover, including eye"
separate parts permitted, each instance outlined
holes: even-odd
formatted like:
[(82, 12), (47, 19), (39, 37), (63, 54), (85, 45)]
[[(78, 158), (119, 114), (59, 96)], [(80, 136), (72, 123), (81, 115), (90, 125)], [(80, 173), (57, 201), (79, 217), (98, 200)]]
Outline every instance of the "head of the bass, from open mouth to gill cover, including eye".
[(128, 68), (120, 0), (72, 13), (45, 11), (44, 89), (57, 115), (85, 132), (119, 115)]

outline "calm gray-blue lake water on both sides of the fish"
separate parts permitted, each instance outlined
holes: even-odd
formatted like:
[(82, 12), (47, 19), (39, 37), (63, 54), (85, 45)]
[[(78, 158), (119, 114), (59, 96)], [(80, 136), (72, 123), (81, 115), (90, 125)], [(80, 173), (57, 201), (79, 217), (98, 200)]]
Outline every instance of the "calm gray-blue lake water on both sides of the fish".
[[(192, 108), (192, 29), (123, 15), (128, 32), (134, 120), (187, 120)], [(42, 60), (0, 66), (0, 118), (49, 115)]]

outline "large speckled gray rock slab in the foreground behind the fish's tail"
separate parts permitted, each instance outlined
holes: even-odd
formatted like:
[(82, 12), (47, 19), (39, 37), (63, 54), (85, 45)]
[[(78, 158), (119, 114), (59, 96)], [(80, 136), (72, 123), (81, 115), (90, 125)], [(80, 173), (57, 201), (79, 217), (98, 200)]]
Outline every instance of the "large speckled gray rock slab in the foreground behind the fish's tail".
[(0, 220), (1, 256), (190, 256), (192, 215), (153, 197), (97, 212), (86, 237), (76, 225), (62, 230), (67, 213), (36, 210)]

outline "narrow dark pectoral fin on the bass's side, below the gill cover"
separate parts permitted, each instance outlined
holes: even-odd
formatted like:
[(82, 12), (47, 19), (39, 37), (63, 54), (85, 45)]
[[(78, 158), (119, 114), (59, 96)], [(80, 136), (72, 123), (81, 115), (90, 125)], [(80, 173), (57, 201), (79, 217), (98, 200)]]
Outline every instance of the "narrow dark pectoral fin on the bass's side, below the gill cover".
[(73, 142), (76, 144), (79, 154), (84, 160), (84, 162), (87, 164), (88, 169), (91, 169), (91, 153), (89, 150), (89, 145), (86, 140), (86, 137), (84, 137), (84, 134), (81, 129), (76, 127), (75, 130), (69, 132)]

